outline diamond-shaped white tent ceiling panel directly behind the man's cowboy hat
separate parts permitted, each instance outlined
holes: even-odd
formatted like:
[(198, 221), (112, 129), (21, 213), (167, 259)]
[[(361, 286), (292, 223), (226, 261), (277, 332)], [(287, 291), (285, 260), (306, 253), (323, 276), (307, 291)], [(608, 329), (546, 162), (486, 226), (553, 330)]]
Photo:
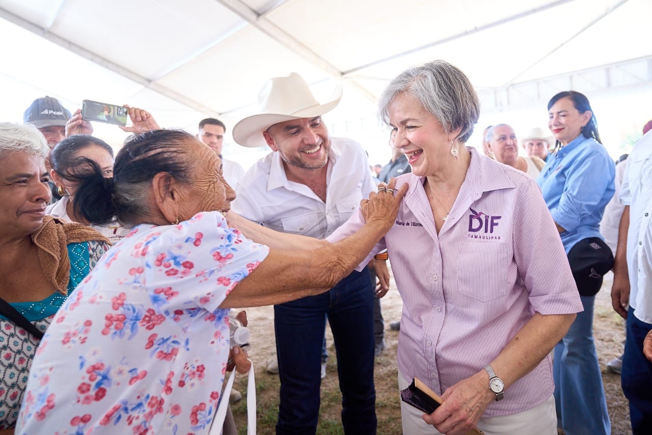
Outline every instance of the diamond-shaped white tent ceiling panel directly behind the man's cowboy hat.
[(158, 83), (223, 113), (256, 103), (259, 89), (270, 77), (289, 72), (298, 72), (308, 83), (327, 78), (258, 29), (246, 27)]

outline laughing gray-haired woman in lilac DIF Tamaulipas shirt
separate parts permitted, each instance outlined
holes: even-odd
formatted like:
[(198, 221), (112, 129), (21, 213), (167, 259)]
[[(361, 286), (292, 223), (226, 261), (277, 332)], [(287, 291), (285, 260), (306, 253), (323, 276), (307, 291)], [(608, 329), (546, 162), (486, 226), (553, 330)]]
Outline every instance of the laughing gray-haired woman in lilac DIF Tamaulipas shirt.
[[(539, 187), (465, 146), (479, 102), (449, 63), (402, 72), (379, 108), (412, 172), (366, 261), (386, 248), (403, 298), (400, 389), (417, 378), (443, 398), (430, 415), (402, 402), (403, 432), (556, 434), (550, 351), (582, 304)], [(363, 223), (356, 214), (327, 240)]]

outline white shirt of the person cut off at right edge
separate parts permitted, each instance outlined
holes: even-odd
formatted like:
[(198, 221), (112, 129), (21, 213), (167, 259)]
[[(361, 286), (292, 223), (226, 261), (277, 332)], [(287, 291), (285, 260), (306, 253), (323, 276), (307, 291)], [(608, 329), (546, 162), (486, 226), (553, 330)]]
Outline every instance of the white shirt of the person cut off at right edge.
[(652, 323), (652, 132), (636, 142), (627, 158), (620, 200), (629, 205), (629, 305), (636, 318)]

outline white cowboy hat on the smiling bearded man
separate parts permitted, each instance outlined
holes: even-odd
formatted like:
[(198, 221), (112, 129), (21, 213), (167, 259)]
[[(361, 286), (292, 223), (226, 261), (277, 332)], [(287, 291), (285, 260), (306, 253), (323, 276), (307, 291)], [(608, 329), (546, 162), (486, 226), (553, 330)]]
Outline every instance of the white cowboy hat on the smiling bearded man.
[(233, 127), (233, 140), (242, 146), (265, 146), (263, 131), (272, 125), (301, 118), (314, 118), (330, 112), (340, 103), (342, 85), (338, 84), (328, 103), (320, 105), (308, 84), (296, 72), (287, 77), (271, 78), (258, 93), (261, 114), (248, 116)]

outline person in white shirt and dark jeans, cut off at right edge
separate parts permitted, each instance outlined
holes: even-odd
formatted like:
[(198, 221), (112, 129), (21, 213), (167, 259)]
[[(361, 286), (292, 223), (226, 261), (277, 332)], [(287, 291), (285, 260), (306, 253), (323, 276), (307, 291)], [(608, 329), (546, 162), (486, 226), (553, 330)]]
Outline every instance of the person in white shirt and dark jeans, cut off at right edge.
[(612, 306), (627, 319), (621, 382), (634, 434), (652, 433), (652, 362), (643, 353), (652, 330), (652, 131), (627, 159), (620, 193), (625, 204), (614, 262)]

